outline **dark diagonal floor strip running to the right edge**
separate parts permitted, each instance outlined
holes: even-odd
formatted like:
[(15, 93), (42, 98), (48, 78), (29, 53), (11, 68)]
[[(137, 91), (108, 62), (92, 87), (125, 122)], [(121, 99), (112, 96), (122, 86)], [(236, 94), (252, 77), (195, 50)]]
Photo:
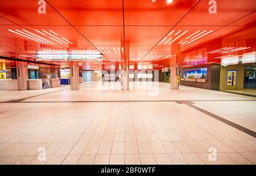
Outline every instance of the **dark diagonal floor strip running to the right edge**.
[(228, 121), (227, 119), (225, 118), (222, 118), (216, 114), (213, 114), (213, 113), (210, 113), (209, 111), (207, 110), (204, 110), (204, 109), (201, 109), (193, 104), (186, 104), (188, 106), (190, 106), (191, 108), (193, 109), (196, 109), (198, 111), (200, 111), (201, 113), (204, 113), (204, 114), (207, 114), (209, 115), (210, 117), (213, 117), (214, 119), (217, 119), (218, 121), (221, 121), (223, 123), (226, 123), (226, 125), (229, 125), (229, 126), (232, 126), (234, 128), (236, 128), (237, 130), (240, 130), (242, 132), (245, 132), (247, 135), (250, 135), (250, 136), (253, 136), (254, 138), (256, 138), (256, 132), (252, 131), (252, 130), (249, 130), (248, 128), (245, 128), (243, 126), (240, 126), (238, 125), (237, 123), (234, 123), (234, 122), (231, 122), (231, 121)]

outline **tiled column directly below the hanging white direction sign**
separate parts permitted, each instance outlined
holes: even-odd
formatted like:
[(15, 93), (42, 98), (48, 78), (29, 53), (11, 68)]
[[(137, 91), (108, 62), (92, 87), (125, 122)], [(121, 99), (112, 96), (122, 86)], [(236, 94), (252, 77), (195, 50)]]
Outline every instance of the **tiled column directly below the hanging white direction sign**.
[(70, 69), (70, 87), (72, 91), (79, 90), (79, 66), (77, 61), (69, 62)]

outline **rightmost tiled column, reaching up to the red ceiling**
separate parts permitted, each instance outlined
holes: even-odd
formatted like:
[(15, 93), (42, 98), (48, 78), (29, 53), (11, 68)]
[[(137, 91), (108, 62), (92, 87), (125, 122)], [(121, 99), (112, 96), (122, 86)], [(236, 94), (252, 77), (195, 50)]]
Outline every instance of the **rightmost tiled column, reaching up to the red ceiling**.
[(179, 76), (180, 45), (172, 45), (171, 54), (175, 55), (170, 58), (171, 89), (179, 89), (179, 82), (177, 81), (177, 76)]

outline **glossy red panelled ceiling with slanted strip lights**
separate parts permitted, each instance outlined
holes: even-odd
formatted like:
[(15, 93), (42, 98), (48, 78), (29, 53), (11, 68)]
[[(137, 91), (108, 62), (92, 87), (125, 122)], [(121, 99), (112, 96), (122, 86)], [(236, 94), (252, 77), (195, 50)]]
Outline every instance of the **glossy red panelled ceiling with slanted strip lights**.
[[(98, 50), (103, 62), (168, 65), (176, 45), (181, 59), (208, 55), (210, 64), (223, 54), (254, 51), (255, 0), (217, 0), (217, 14), (209, 14), (208, 2), (47, 0), (46, 14), (39, 14), (37, 0), (1, 0), (0, 55), (35, 60), (35, 51), (44, 48)], [(225, 47), (233, 50), (208, 53)], [(97, 65), (80, 63), (84, 69)]]

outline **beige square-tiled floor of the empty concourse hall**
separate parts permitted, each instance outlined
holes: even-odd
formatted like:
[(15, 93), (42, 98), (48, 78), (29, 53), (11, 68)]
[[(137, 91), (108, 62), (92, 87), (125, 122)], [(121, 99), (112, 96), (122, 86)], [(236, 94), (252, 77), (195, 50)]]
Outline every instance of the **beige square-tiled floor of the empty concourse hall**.
[[(167, 83), (158, 91), (152, 97), (99, 91), (97, 83), (80, 91), (0, 91), (0, 101), (40, 95), (0, 104), (0, 164), (256, 164), (255, 138), (185, 104), (162, 101), (194, 100), (255, 131), (256, 101), (248, 100), (256, 98), (182, 86), (174, 91)], [(38, 160), (41, 147), (46, 161)], [(212, 147), (217, 161), (208, 159)]]

